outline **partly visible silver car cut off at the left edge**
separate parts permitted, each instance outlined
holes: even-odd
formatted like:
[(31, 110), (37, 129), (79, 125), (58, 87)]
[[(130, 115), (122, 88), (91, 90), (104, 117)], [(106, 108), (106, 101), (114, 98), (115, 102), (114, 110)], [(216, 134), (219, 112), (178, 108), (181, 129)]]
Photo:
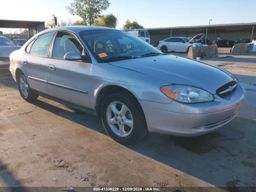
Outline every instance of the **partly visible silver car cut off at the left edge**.
[(10, 54), (17, 49), (20, 49), (20, 47), (14, 42), (4, 36), (0, 36), (0, 72), (9, 70)]

